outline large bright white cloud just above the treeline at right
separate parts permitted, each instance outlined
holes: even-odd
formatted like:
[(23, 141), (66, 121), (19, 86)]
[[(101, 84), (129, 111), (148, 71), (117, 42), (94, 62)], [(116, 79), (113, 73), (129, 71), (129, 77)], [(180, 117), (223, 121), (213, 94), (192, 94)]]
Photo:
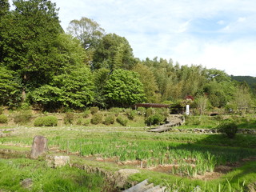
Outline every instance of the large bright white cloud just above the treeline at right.
[[(201, 64), (225, 70), (227, 74), (256, 76), (256, 45), (246, 39), (228, 43), (202, 42), (198, 39), (198, 42), (183, 42), (175, 50), (182, 65)], [(181, 53), (186, 57), (182, 57)]]

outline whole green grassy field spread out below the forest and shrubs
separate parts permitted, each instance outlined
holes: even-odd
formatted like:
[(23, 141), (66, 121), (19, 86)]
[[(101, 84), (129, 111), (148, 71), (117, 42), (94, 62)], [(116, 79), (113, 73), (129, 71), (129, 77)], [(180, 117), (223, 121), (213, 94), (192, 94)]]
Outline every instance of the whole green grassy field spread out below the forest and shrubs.
[[(208, 119), (213, 121), (212, 118)], [(190, 123), (193, 121), (190, 120)], [(241, 125), (246, 121), (241, 120)], [(207, 123), (210, 125), (210, 120)], [(218, 124), (216, 119), (212, 125), (214, 123)], [(248, 123), (254, 125), (252, 121)], [(186, 126), (181, 128), (186, 129)], [(115, 122), (110, 126), (99, 124), (9, 128), (14, 130), (6, 132), (0, 138), (0, 150), (29, 154), (34, 136), (43, 135), (48, 138), (49, 153), (57, 153), (51, 149), (58, 149), (58, 154), (70, 155), (72, 164), (98, 167), (112, 174), (124, 168), (139, 170), (138, 174), (130, 176), (130, 183), (149, 178), (155, 185), (167, 186), (168, 191), (185, 192), (250, 191), (249, 188), (256, 185), (254, 134), (237, 134), (233, 139), (224, 134), (156, 134), (146, 132), (148, 128), (139, 116), (136, 121), (128, 122), (127, 126)], [(101, 184), (107, 181), (103, 175), (86, 174), (70, 167), (50, 169), (43, 159), (36, 161), (24, 157), (25, 155), (13, 155), (9, 159), (1, 159), (0, 191), (26, 191), (20, 185), (24, 178), (35, 181), (32, 191), (117, 190), (115, 186)], [(59, 171), (63, 177), (57, 177), (60, 175)], [(32, 172), (35, 175), (31, 175)], [(15, 177), (11, 180), (8, 175)], [(80, 181), (82, 178), (88, 178), (93, 184)]]

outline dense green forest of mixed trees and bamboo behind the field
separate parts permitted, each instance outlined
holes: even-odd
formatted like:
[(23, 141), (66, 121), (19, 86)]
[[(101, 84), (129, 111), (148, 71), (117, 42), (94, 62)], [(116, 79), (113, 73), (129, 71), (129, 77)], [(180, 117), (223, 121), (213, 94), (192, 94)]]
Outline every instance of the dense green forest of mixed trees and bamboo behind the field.
[[(209, 108), (255, 106), (256, 86), (222, 70), (134, 57), (126, 38), (90, 18), (70, 21), (47, 0), (0, 2), (0, 105), (42, 110), (194, 100)], [(234, 81), (234, 79), (238, 81)], [(255, 80), (255, 78), (254, 78)]]

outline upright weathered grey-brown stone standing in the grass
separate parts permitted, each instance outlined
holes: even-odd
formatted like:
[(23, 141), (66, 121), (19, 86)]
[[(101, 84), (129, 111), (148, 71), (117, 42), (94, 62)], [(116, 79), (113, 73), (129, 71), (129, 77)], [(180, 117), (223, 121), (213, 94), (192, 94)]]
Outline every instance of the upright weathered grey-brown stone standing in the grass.
[(39, 135), (35, 136), (32, 144), (30, 158), (38, 158), (38, 156), (46, 153), (47, 150), (47, 138)]

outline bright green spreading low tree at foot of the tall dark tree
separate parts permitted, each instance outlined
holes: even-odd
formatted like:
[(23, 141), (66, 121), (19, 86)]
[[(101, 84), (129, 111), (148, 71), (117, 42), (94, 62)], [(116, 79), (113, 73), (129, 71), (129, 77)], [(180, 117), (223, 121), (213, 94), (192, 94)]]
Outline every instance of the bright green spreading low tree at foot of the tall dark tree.
[(38, 103), (46, 110), (66, 106), (73, 109), (90, 105), (94, 101), (94, 82), (86, 66), (72, 70), (70, 74), (54, 77), (50, 85), (34, 90), (30, 102)]

